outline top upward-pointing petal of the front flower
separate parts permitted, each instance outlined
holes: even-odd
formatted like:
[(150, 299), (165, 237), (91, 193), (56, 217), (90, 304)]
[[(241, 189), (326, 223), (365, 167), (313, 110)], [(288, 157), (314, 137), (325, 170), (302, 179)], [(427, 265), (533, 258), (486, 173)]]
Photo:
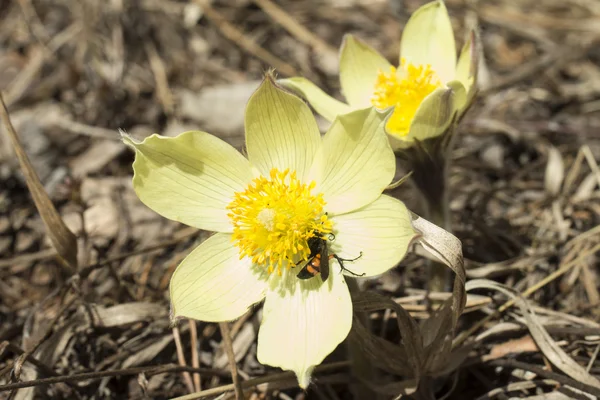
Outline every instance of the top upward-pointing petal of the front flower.
[(321, 134), (302, 99), (277, 87), (267, 75), (248, 101), (245, 125), (248, 159), (261, 174), (289, 168), (304, 180)]

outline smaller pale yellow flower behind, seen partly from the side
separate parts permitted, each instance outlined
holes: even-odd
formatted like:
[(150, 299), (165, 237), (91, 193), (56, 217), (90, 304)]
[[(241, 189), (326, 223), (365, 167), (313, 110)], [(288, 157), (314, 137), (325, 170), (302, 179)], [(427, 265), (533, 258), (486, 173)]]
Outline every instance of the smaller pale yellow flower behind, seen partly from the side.
[(340, 56), (342, 103), (305, 78), (281, 83), (304, 96), (323, 117), (373, 106), (395, 107), (386, 124), (394, 148), (410, 146), (445, 132), (475, 94), (477, 57), (472, 33), (458, 64), (454, 33), (442, 0), (420, 7), (411, 16), (400, 41), (400, 65), (352, 35), (346, 35)]

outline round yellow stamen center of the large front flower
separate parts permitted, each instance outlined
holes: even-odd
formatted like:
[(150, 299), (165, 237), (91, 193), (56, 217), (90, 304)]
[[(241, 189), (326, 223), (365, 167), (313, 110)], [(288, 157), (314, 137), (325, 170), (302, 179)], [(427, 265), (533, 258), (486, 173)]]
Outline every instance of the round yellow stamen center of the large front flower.
[(295, 172), (273, 168), (269, 177), (255, 178), (246, 190), (235, 193), (227, 215), (240, 259), (251, 257), (279, 274), (283, 267), (306, 260), (308, 239), (331, 232), (323, 195), (312, 194), (314, 187), (315, 182), (301, 183)]

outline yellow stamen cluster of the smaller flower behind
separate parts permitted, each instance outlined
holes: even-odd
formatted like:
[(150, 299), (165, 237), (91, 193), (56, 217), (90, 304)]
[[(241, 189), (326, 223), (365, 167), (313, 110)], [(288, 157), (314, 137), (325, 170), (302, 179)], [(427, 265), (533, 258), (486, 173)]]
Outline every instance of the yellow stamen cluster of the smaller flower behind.
[(402, 59), (398, 70), (379, 70), (371, 104), (378, 109), (395, 106), (388, 120), (389, 133), (406, 136), (419, 105), (428, 94), (442, 86), (431, 65), (413, 65)]

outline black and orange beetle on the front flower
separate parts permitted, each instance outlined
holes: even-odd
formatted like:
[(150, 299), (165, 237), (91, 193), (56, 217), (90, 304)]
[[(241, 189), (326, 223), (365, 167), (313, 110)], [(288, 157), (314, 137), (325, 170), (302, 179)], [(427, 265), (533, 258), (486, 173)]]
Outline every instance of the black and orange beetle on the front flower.
[[(333, 233), (329, 234), (329, 240), (333, 240), (334, 238), (335, 236)], [(308, 248), (310, 249), (310, 255), (306, 260), (300, 260), (296, 263), (296, 265), (299, 265), (300, 263), (305, 262), (300, 272), (298, 272), (298, 275), (296, 275), (299, 279), (310, 279), (321, 274), (321, 280), (325, 282), (329, 277), (329, 261), (333, 258), (338, 261), (342, 271), (348, 271), (355, 276), (365, 275), (364, 272), (362, 274), (355, 274), (348, 268), (344, 267), (344, 261), (352, 262), (358, 260), (360, 257), (362, 257), (362, 251), (356, 258), (341, 258), (337, 254), (329, 254), (329, 249), (327, 248), (327, 239), (321, 236), (313, 236), (309, 238), (307, 242)]]

